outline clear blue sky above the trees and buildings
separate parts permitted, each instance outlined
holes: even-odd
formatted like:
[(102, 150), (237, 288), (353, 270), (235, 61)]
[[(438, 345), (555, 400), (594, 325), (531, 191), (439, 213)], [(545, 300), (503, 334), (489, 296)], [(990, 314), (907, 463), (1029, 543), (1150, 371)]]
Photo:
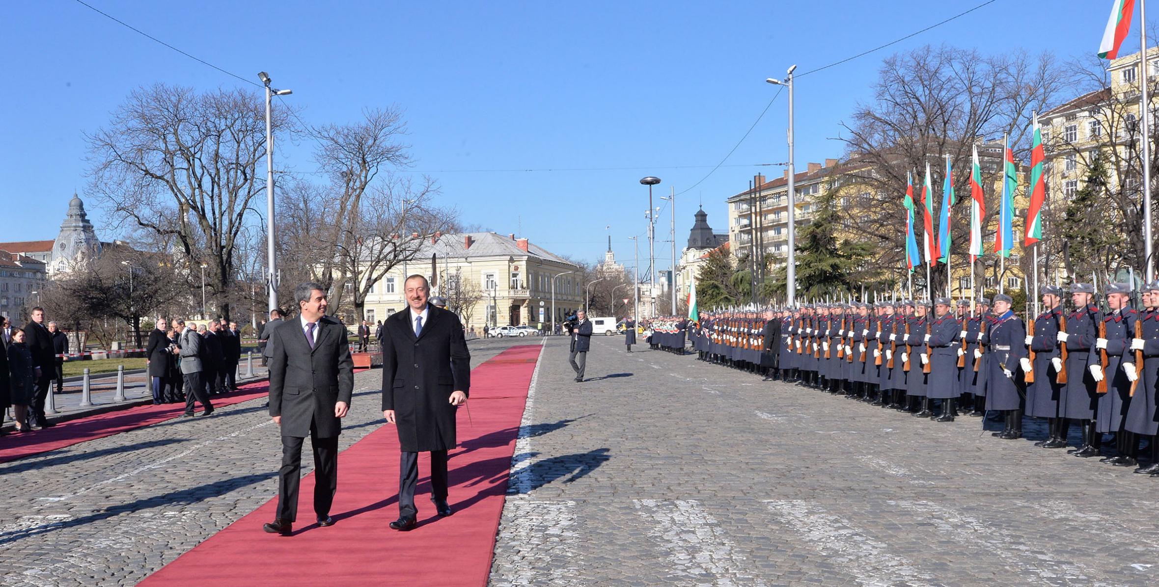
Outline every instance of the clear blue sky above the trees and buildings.
[[(611, 225), (617, 257), (630, 265), (627, 236), (646, 230), (640, 177), (663, 179), (657, 196), (701, 179), (777, 91), (765, 78), (859, 53), (982, 1), (89, 3), (247, 79), (269, 72), (276, 87), (293, 89), (286, 100), (309, 124), (353, 122), (364, 108), (398, 104), (414, 170), (438, 178), (442, 201), (457, 205), (465, 223), (586, 259), (602, 257)], [(883, 57), (949, 43), (993, 53), (1047, 50), (1067, 60), (1096, 51), (1110, 5), (998, 0), (801, 78), (799, 169), (840, 156), (838, 125), (872, 97)], [(13, 2), (5, 12), (0, 241), (56, 237), (73, 190), (83, 197), (82, 133), (105, 124), (131, 89), (242, 85), (74, 0)], [(1137, 41), (1128, 44), (1124, 53), (1137, 51)], [(678, 248), (698, 204), (723, 232), (724, 199), (761, 169), (780, 173), (749, 166), (786, 160), (783, 98), (727, 162), (741, 167), (722, 167), (677, 198)], [(277, 168), (314, 169), (309, 145), (279, 148)], [(590, 168), (629, 169), (502, 171)], [(117, 235), (100, 210), (90, 212), (103, 239)], [(665, 208), (657, 236), (668, 239), (668, 229)], [(657, 243), (659, 259), (668, 251)]]

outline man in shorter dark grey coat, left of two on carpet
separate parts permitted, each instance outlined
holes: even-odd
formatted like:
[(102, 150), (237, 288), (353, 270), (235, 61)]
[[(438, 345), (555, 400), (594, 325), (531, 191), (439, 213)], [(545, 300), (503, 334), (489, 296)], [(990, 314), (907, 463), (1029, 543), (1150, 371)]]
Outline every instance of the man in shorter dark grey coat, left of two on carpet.
[(270, 417), (282, 427), (278, 508), (271, 534), (289, 536), (298, 516), (301, 445), (314, 449), (314, 513), (331, 526), (330, 505), (338, 489), (338, 433), (350, 409), (355, 364), (347, 330), (326, 316), (326, 291), (314, 283), (294, 288), (299, 320), (267, 324), (270, 335)]

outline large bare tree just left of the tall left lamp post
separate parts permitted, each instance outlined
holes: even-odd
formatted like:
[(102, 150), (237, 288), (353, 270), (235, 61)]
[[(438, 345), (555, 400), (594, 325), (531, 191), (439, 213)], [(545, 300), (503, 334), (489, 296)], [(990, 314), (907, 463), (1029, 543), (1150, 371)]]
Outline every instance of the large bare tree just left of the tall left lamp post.
[[(285, 109), (276, 132), (293, 129)], [(89, 192), (115, 218), (166, 240), (188, 269), (206, 263), (214, 294), (238, 278), (239, 240), (265, 189), (265, 110), (242, 89), (197, 93), (155, 85), (132, 91), (110, 123), (92, 133)], [(220, 304), (229, 315), (229, 303)]]

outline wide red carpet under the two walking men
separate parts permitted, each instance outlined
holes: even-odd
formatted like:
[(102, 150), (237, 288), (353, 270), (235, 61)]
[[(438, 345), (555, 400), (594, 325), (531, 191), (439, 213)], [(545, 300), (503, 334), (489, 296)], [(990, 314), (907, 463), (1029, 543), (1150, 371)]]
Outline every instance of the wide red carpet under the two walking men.
[[(466, 410), (459, 410), (460, 446), (450, 462), (449, 501), (454, 515), (440, 519), (435, 514), (430, 460), (423, 453), (415, 496), (418, 527), (408, 533), (387, 527), (399, 518), (399, 435), (393, 426), (384, 425), (338, 455), (338, 492), (330, 513), (337, 523), (333, 527), (313, 523), (314, 474), (309, 474), (301, 482), (293, 536), (262, 531), (262, 524), (274, 520), (275, 497), (139, 585), (487, 585), (511, 455), (539, 351), (538, 344), (513, 346), (472, 372), (473, 421)], [(277, 464), (271, 462), (271, 470)], [(276, 491), (275, 479), (268, 485)]]

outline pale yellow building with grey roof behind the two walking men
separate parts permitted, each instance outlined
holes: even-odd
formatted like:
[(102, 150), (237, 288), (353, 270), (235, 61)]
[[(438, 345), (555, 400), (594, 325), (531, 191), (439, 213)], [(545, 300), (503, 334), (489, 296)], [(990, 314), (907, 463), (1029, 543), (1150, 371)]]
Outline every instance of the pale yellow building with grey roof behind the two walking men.
[[(433, 262), (432, 262), (433, 257)], [(468, 331), (484, 324), (548, 328), (552, 322), (552, 281), (555, 281), (555, 322), (583, 307), (578, 266), (527, 239), (495, 233), (442, 234), (423, 241), (406, 265), (393, 267), (371, 288), (364, 317), (370, 323), (407, 307), (402, 284), (418, 273), (430, 279), (431, 295), (447, 298)], [(348, 318), (348, 324), (352, 316)]]

